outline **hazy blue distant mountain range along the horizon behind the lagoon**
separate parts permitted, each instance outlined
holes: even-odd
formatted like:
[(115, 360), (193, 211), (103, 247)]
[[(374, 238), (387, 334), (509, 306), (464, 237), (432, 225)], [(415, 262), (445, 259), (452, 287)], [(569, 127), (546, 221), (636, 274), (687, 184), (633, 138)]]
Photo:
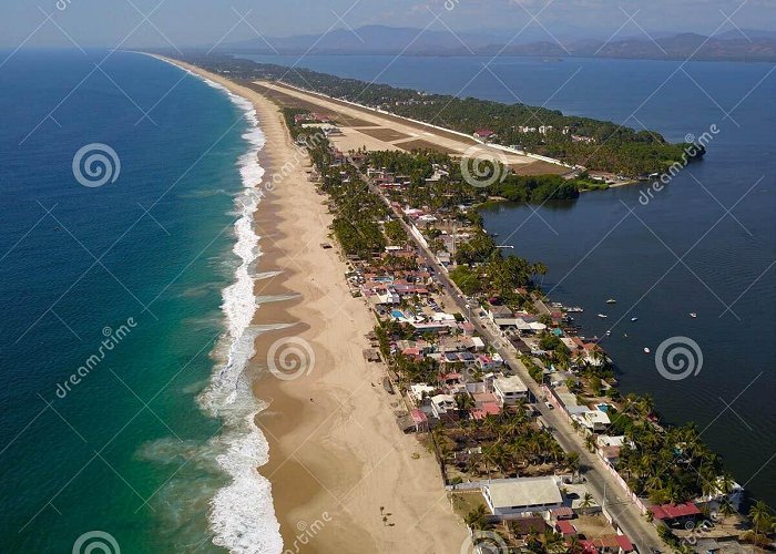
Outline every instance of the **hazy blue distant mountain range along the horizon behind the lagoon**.
[(257, 54), (405, 54), (405, 55), (535, 55), (545, 58), (632, 58), (728, 61), (776, 61), (776, 32), (726, 31), (714, 37), (696, 33), (600, 39), (569, 39), (558, 34), (539, 40), (540, 33), (521, 34), (510, 42), (508, 31), (457, 32), (384, 25), (337, 29), (326, 34), (253, 39), (224, 44), (221, 51)]

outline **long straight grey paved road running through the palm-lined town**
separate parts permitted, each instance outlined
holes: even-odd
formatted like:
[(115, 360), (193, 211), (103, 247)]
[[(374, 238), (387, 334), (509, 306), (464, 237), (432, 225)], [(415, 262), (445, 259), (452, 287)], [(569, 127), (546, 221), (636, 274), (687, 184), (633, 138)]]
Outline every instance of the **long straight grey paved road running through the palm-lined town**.
[[(365, 177), (366, 179), (366, 177)], [(377, 194), (389, 208), (390, 202), (386, 198), (381, 191), (376, 186), (369, 185), (370, 189)], [(392, 208), (391, 208), (392, 212)], [(534, 398), (543, 398), (541, 387), (531, 378), (528, 369), (518, 359), (517, 351), (503, 339), (499, 331), (489, 320), (480, 319), (479, 306), (469, 306), (466, 297), (461, 294), (458, 287), (448, 277), (447, 271), (437, 263), (436, 257), (428, 250), (415, 236), (410, 233), (410, 227), (398, 216), (401, 224), (405, 226), (408, 235), (415, 240), (428, 265), (435, 268), (437, 278), (446, 293), (456, 302), (461, 314), (469, 314), (471, 324), (477, 331), (482, 335), (491, 345), (494, 346), (499, 355), (509, 363), (513, 372), (518, 375), (528, 386)], [(547, 309), (547, 307), (544, 307)], [(473, 311), (473, 316), (472, 316)], [(558, 443), (566, 452), (576, 452), (580, 455), (580, 466), (584, 468), (584, 479), (586, 484), (592, 490), (595, 497), (601, 502), (610, 514), (613, 515), (615, 523), (631, 538), (636, 548), (642, 553), (649, 553), (651, 548), (661, 550), (665, 545), (657, 536), (655, 527), (644, 520), (641, 511), (636, 507), (633, 501), (627, 497), (625, 491), (615, 481), (614, 476), (603, 468), (603, 461), (595, 454), (592, 454), (584, 444), (582, 438), (574, 431), (565, 416), (559, 413), (554, 409), (548, 408), (543, 402), (537, 401), (535, 408), (539, 410), (544, 421), (552, 428), (552, 434)]]

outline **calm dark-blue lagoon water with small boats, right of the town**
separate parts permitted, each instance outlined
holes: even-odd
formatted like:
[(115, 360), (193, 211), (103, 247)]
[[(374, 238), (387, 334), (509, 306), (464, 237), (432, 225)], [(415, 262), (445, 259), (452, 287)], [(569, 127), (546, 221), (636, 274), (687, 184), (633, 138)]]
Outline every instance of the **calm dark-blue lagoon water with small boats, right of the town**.
[[(500, 244), (548, 265), (542, 285), (553, 300), (585, 309), (575, 322), (584, 336), (602, 339), (617, 365), (623, 392), (651, 394), (668, 422), (694, 421), (736, 480), (776, 505), (776, 362), (769, 350), (776, 343), (773, 64), (246, 58), (436, 93), (542, 105), (654, 130), (670, 141), (707, 140), (704, 161), (660, 189), (644, 183), (585, 193), (568, 204), (499, 205), (483, 217)], [(610, 298), (616, 305), (607, 305)], [(637, 320), (631, 321), (633, 317)], [(657, 371), (655, 359), (666, 340), (664, 352), (678, 355), (663, 360), (672, 379)], [(687, 345), (692, 360), (675, 350)], [(681, 365), (683, 359), (691, 366), (671, 370), (671, 361)], [(688, 369), (692, 375), (675, 378)]]

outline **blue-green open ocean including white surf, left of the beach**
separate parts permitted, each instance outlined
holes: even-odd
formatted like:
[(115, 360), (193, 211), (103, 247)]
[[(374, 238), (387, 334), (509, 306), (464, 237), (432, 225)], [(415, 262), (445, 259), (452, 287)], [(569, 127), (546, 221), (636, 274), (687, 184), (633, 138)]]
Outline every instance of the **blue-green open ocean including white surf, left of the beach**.
[(279, 552), (254, 111), (124, 52), (20, 51), (0, 85), (3, 551)]

